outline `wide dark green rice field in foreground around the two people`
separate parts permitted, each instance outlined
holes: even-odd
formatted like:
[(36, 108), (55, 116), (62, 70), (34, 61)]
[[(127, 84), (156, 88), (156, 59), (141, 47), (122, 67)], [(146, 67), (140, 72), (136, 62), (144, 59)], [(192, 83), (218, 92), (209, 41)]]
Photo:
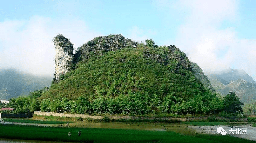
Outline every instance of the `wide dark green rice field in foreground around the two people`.
[[(81, 130), (81, 136), (77, 133)], [(68, 136), (68, 132), (71, 136)], [(253, 143), (254, 141), (236, 138), (229, 135), (197, 135), (185, 136), (167, 131), (144, 131), (124, 129), (99, 128), (60, 128), (0, 124), (0, 138), (25, 140), (50, 140), (67, 142), (94, 142), (94, 143)]]

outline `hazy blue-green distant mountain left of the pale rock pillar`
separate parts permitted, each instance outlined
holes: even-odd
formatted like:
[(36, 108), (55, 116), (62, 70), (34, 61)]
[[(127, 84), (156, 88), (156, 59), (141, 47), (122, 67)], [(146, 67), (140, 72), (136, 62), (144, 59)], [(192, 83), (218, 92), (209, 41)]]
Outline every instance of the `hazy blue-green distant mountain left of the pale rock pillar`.
[(0, 70), (0, 99), (8, 100), (19, 95), (50, 87), (52, 77), (38, 77), (15, 69)]

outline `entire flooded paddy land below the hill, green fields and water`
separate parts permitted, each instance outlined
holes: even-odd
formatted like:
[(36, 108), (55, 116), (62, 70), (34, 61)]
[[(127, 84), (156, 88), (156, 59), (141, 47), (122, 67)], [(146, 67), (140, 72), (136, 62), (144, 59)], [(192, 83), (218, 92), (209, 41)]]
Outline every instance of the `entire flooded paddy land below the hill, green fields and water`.
[[(3, 121), (10, 124), (4, 124)], [(60, 126), (61, 124), (63, 126)], [(247, 136), (249, 137), (217, 134), (215, 132), (219, 126), (226, 128), (227, 131), (235, 126), (236, 128), (238, 126), (248, 128)], [(255, 122), (182, 122), (175, 124), (3, 118), (0, 122), (0, 138), (89, 143), (252, 143), (256, 142), (251, 137), (256, 133), (253, 126)], [(77, 134), (79, 130), (80, 136)], [(201, 132), (197, 132), (198, 130)], [(69, 132), (71, 136), (68, 136)], [(246, 139), (243, 139), (244, 137)]]

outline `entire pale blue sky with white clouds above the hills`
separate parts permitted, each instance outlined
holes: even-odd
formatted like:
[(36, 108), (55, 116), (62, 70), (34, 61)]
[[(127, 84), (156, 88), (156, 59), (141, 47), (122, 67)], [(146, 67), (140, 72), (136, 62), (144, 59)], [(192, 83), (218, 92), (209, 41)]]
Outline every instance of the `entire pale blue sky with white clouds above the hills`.
[(0, 69), (54, 75), (54, 36), (75, 47), (109, 34), (176, 45), (205, 71), (243, 69), (256, 80), (256, 1), (2, 1)]

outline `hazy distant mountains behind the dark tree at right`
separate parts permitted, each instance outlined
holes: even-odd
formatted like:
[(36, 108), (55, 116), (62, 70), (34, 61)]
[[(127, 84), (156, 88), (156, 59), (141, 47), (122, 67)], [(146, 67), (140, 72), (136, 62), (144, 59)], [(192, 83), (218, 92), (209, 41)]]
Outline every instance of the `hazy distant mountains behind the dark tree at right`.
[(216, 92), (225, 96), (235, 92), (244, 104), (256, 102), (256, 83), (245, 71), (229, 69), (222, 73), (205, 73)]

